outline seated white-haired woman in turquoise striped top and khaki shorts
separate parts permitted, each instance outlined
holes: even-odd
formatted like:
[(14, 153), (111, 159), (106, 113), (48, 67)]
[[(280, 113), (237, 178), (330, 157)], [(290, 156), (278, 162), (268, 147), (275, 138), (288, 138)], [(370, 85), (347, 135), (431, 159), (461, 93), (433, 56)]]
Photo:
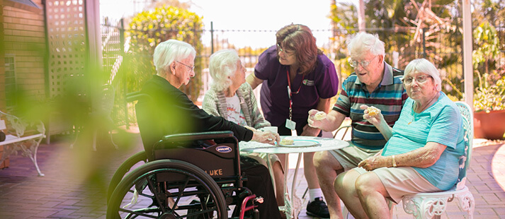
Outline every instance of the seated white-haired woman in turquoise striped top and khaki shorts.
[(355, 218), (390, 218), (387, 200), (444, 191), (458, 180), (463, 155), (463, 119), (458, 107), (441, 92), (440, 73), (426, 59), (415, 59), (402, 79), (409, 98), (395, 126), (387, 126), (381, 113), (363, 117), (388, 139), (385, 147), (358, 167), (339, 174), (339, 194)]

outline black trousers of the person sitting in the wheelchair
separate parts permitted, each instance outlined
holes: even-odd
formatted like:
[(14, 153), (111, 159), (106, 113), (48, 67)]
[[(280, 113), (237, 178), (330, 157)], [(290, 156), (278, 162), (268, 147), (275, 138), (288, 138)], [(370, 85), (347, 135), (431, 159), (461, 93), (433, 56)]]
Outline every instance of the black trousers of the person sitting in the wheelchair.
[(256, 194), (256, 197), (263, 197), (263, 203), (258, 206), (259, 218), (280, 218), (276, 194), (273, 190), (268, 168), (253, 158), (240, 156), (240, 169), (247, 177), (244, 187), (250, 189), (253, 194)]

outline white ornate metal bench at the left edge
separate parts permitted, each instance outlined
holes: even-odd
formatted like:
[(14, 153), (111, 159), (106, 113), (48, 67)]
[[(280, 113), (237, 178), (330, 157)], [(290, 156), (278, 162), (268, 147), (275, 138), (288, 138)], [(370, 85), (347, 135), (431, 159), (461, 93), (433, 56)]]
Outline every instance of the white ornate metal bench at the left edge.
[[(6, 123), (9, 126), (5, 141), (0, 142), (0, 146), (4, 146), (4, 153), (0, 158), (0, 163), (4, 162), (4, 160), (6, 160), (10, 155), (17, 155), (18, 151), (21, 151), (21, 155), (29, 157), (30, 160), (32, 160), (33, 165), (35, 165), (38, 175), (43, 177), (44, 174), (40, 172), (37, 164), (37, 150), (40, 145), (40, 141), (42, 141), (42, 138), (45, 138), (44, 124), (42, 122), (29, 124), (18, 117), (1, 111), (0, 117), (2, 119), (5, 117), (6, 119), (6, 122), (0, 120), (0, 130), (7, 129)], [(30, 129), (30, 134), (25, 135), (25, 131), (28, 127), (33, 127), (34, 129)], [(12, 132), (13, 134), (9, 134), (9, 132)]]

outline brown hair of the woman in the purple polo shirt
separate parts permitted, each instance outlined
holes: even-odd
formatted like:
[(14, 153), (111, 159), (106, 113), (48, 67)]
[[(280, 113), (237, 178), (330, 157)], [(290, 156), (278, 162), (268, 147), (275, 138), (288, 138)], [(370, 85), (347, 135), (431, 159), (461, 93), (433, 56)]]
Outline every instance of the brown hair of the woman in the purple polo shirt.
[(277, 45), (295, 51), (298, 68), (303, 75), (314, 71), (317, 55), (322, 54), (322, 51), (317, 49), (316, 38), (310, 28), (306, 25), (290, 24), (280, 28), (276, 37)]

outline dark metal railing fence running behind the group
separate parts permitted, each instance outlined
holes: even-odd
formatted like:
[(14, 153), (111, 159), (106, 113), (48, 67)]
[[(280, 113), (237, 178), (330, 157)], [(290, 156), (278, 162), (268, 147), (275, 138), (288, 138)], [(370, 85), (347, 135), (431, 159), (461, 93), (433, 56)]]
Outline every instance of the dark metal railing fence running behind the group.
[[(124, 39), (124, 27), (121, 23), (116, 23), (106, 21), (102, 24), (103, 31), (108, 32), (119, 32), (119, 37), (123, 36)], [(497, 61), (499, 66), (502, 66), (501, 72), (505, 66), (505, 25), (500, 25), (497, 28), (499, 34), (499, 40), (501, 45), (501, 54)], [(107, 32), (106, 31), (106, 32)], [(165, 30), (170, 31), (170, 30)], [(174, 30), (178, 31), (178, 30)], [(242, 59), (242, 64), (248, 69), (248, 73), (254, 71), (254, 66), (258, 61), (259, 54), (264, 51), (264, 49), (275, 45), (275, 33), (276, 30), (214, 30), (212, 25), (208, 30), (190, 30), (199, 32), (201, 34), (201, 40), (203, 42), (203, 50), (200, 54), (197, 54), (195, 59), (195, 64), (200, 66), (197, 74), (201, 75), (201, 83), (191, 82), (183, 91), (188, 93), (188, 90), (195, 89), (200, 90), (200, 98), (203, 97), (205, 91), (208, 89), (210, 84), (210, 76), (208, 76), (208, 63), (210, 54), (216, 52), (220, 49), (237, 49), (239, 57)], [(335, 61), (342, 60), (347, 57), (346, 50), (342, 49), (345, 47), (343, 41), (337, 42), (338, 39), (334, 35), (341, 35), (346, 37), (348, 32), (356, 32), (357, 30), (312, 30), (314, 36), (317, 38), (318, 42), (327, 41), (323, 44), (318, 44), (318, 47), (323, 50), (327, 56)], [(410, 42), (412, 35), (414, 35), (414, 29), (404, 28), (402, 30), (398, 29), (368, 29), (367, 32), (376, 33), (381, 39), (388, 37), (386, 45), (386, 57), (385, 60), (392, 64), (393, 66), (403, 69), (409, 61), (416, 58), (426, 57), (427, 59), (433, 61), (436, 66), (439, 67), (441, 73), (451, 78), (451, 81), (455, 85), (463, 90), (463, 48), (461, 45), (462, 35), (458, 30), (447, 31), (447, 30), (427, 30), (421, 31), (418, 42)], [(433, 34), (433, 31), (438, 31)], [(326, 39), (325, 39), (326, 38)], [(391, 40), (398, 39), (398, 40)], [(109, 40), (110, 41), (110, 40)], [(126, 43), (125, 43), (126, 41)], [(124, 45), (127, 45), (127, 40), (115, 40), (119, 43), (106, 43), (104, 44), (103, 56), (104, 56), (104, 69), (112, 70), (116, 67), (119, 69), (119, 73), (116, 73), (115, 80), (113, 84), (115, 85), (117, 91), (116, 107), (115, 107), (115, 123), (116, 124), (128, 124), (127, 117), (127, 107), (124, 102), (124, 96), (128, 92), (136, 90), (127, 90), (121, 83), (114, 83), (114, 81), (125, 81), (124, 78), (127, 75), (125, 68), (117, 66), (118, 57), (121, 57), (122, 52), (124, 52)], [(190, 44), (192, 42), (189, 42)], [(195, 43), (195, 42), (193, 42)], [(124, 54), (124, 53), (123, 53)], [(341, 69), (348, 68), (352, 71), (351, 67), (348, 66), (346, 61), (340, 65), (336, 65), (337, 71)], [(339, 69), (341, 68), (341, 69)], [(195, 69), (195, 70), (196, 70)], [(122, 76), (123, 75), (123, 76)], [(123, 77), (123, 78), (121, 78)], [(345, 76), (344, 76), (345, 77)], [(195, 80), (195, 79), (193, 79)], [(203, 84), (203, 85), (202, 85)], [(198, 86), (195, 86), (198, 85)], [(454, 91), (446, 86), (443, 88), (446, 93), (454, 94)], [(259, 89), (256, 89), (259, 90)]]

